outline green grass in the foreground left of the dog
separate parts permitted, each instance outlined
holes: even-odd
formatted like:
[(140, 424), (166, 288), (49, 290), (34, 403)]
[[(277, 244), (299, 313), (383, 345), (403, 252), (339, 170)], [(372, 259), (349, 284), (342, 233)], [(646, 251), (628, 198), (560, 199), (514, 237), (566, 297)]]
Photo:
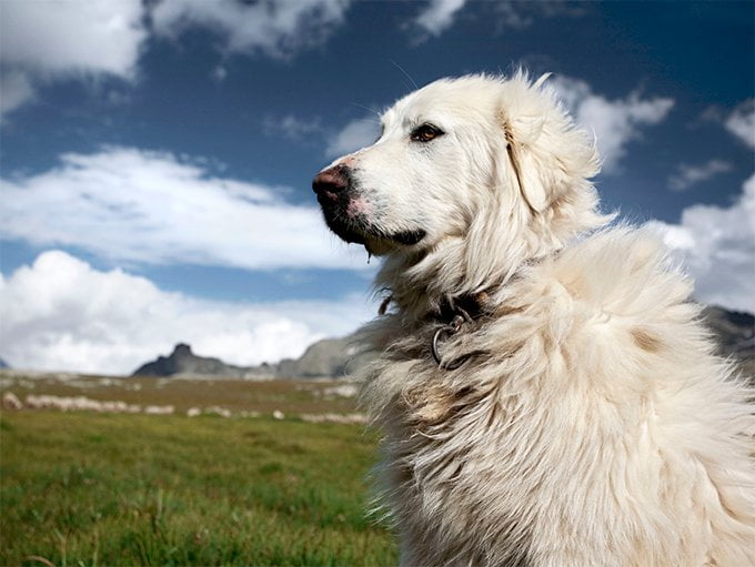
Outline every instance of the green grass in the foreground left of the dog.
[(0, 565), (392, 565), (375, 439), (298, 421), (3, 412)]

